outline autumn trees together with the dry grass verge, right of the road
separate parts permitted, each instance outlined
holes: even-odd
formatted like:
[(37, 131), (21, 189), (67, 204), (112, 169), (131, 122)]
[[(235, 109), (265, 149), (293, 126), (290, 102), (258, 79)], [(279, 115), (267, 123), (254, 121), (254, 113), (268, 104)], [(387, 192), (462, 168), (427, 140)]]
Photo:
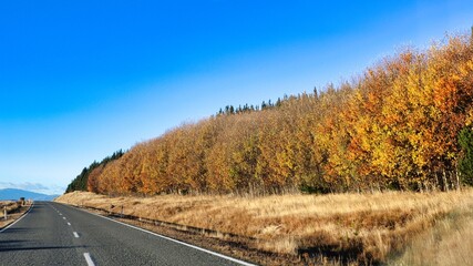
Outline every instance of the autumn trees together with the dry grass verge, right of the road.
[(462, 264), (472, 103), (473, 38), (448, 37), (349, 82), (169, 130), (84, 168), (68, 192), (88, 192), (56, 201), (202, 229), (261, 264)]

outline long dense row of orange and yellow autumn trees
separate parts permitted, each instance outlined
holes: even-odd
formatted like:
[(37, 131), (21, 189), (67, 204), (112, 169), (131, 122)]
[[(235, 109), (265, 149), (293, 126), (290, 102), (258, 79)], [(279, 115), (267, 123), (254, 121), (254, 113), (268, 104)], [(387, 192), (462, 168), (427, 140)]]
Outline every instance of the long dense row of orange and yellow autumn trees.
[(471, 185), (472, 86), (473, 40), (450, 37), (385, 58), (338, 86), (178, 126), (101, 167), (88, 190), (273, 194)]

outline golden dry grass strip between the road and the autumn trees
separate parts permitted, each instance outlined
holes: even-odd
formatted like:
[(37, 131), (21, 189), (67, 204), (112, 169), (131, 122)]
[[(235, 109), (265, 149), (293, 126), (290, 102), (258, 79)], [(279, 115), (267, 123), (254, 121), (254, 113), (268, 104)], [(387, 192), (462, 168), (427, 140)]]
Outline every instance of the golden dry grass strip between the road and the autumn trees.
[(127, 215), (239, 235), (253, 239), (251, 248), (300, 256), (306, 263), (372, 264), (387, 262), (414, 236), (473, 206), (473, 191), (147, 198), (75, 192), (56, 201), (115, 213), (123, 206)]

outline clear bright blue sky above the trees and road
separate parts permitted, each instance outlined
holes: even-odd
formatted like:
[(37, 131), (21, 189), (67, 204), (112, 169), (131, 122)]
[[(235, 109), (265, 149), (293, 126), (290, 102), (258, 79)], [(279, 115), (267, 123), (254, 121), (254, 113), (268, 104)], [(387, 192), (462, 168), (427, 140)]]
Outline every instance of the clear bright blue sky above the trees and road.
[(361, 73), (473, 25), (471, 1), (2, 1), (0, 188), (84, 166), (227, 104)]

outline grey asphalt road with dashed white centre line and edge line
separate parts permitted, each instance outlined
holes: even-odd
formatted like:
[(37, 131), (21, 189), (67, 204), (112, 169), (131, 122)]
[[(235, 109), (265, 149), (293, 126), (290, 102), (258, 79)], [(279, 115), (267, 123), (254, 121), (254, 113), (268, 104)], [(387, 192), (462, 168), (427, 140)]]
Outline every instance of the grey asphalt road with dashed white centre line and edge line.
[(52, 202), (0, 233), (0, 265), (244, 265)]

